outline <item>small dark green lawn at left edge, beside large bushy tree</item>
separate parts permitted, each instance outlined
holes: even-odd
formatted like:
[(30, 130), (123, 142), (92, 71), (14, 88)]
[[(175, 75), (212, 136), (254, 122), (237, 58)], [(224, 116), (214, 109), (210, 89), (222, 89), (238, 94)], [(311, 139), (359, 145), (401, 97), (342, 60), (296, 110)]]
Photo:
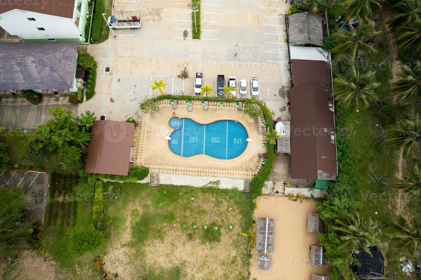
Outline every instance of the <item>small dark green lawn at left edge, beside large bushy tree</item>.
[[(40, 163), (31, 162), (22, 157), (25, 143), (34, 133), (35, 130), (28, 130), (27, 133), (24, 133), (23, 130), (4, 131), (0, 133), (0, 142), (8, 144), (7, 153), (10, 157), (8, 164), (18, 163), (21, 166), (41, 164), (44, 168), (54, 167), (53, 162), (50, 160), (51, 155), (48, 155), (49, 161), (43, 160)], [(21, 138), (20, 135), (24, 135), (24, 138)]]

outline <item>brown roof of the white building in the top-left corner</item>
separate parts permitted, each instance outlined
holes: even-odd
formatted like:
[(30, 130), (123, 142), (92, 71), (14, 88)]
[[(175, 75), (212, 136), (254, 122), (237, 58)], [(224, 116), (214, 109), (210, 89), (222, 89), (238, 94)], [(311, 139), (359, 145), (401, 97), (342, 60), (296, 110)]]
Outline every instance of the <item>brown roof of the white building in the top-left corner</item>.
[(0, 4), (0, 14), (19, 9), (47, 15), (73, 18), (75, 1), (72, 0), (7, 0)]

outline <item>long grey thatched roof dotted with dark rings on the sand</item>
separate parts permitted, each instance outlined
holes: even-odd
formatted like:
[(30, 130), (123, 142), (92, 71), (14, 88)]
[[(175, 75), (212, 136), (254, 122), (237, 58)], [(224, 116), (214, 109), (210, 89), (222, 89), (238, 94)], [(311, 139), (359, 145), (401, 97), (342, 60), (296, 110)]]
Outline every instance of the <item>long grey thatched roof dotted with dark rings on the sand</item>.
[(272, 253), (275, 247), (275, 219), (258, 217), (256, 224), (256, 251)]

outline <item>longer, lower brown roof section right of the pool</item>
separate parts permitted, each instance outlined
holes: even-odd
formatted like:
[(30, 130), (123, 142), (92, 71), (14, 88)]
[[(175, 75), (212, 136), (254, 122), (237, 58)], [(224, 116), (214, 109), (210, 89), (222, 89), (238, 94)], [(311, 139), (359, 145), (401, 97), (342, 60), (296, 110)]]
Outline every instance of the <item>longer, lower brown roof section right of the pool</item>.
[(290, 89), (293, 179), (336, 180), (336, 139), (330, 95), (328, 90), (315, 85)]

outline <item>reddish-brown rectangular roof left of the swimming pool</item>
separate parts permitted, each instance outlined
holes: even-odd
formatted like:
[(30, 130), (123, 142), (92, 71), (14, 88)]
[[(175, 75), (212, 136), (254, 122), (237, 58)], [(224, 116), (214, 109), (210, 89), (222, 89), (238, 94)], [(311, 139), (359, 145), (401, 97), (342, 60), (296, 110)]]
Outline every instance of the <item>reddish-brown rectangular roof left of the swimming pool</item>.
[(127, 175), (133, 131), (131, 122), (93, 122), (85, 172)]

